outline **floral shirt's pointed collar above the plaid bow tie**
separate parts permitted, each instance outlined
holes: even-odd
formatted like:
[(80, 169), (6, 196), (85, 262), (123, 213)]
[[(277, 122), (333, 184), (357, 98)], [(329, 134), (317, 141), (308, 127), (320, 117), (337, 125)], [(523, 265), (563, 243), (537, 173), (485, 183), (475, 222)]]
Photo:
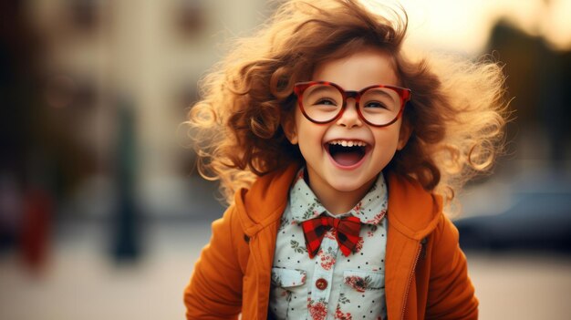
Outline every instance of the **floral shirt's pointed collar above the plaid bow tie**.
[[(304, 180), (304, 170), (305, 168), (302, 168), (297, 172), (296, 180), (289, 191), (289, 205), (293, 221), (296, 223), (305, 222), (306, 220), (316, 218), (324, 212), (334, 216), (327, 212), (327, 209), (325, 209), (315, 193), (307, 185)], [(380, 172), (377, 181), (365, 194), (365, 197), (349, 212), (341, 214), (341, 216), (350, 214), (357, 217), (362, 223), (378, 224), (387, 213), (387, 201), (387, 183), (382, 172)]]

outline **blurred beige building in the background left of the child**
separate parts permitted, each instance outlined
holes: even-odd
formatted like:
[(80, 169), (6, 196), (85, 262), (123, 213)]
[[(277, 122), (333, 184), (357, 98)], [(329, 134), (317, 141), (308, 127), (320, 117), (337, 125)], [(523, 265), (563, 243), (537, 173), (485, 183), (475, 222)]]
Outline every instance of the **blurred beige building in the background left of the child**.
[(198, 96), (197, 81), (223, 56), (225, 40), (248, 34), (271, 10), (262, 0), (27, 1), (45, 48), (39, 63), (49, 125), (73, 146), (55, 152), (82, 167), (78, 189), (63, 189), (78, 201), (99, 201), (79, 205), (81, 214), (109, 211), (100, 201), (114, 188), (119, 108), (134, 117), (141, 206), (181, 213), (194, 162), (179, 126)]

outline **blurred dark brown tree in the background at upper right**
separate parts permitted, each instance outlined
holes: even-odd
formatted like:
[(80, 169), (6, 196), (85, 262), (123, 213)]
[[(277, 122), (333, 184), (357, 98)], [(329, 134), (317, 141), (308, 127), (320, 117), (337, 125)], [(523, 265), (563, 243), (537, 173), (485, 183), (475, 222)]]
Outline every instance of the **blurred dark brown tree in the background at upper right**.
[(508, 96), (515, 97), (510, 107), (516, 108), (516, 121), (508, 126), (508, 136), (544, 130), (549, 154), (543, 160), (563, 169), (571, 136), (571, 53), (555, 51), (543, 38), (504, 21), (493, 27), (488, 51), (505, 63)]

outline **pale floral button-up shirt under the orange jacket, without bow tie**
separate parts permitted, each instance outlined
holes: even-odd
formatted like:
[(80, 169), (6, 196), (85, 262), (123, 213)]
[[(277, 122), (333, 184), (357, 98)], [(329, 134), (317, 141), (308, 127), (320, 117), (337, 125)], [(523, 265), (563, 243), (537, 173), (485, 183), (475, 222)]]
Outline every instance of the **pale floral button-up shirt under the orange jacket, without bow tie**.
[(297, 174), (289, 191), (275, 243), (270, 315), (275, 319), (385, 319), (385, 249), (387, 185), (379, 178), (350, 212), (363, 223), (362, 241), (343, 255), (334, 231), (327, 231), (319, 252), (310, 259), (299, 223), (320, 214), (332, 215)]

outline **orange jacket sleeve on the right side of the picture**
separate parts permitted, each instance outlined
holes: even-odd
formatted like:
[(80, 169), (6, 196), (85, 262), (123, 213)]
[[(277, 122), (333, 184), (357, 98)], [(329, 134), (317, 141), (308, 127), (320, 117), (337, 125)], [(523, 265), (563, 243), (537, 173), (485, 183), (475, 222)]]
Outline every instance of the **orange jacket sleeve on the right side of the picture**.
[(427, 319), (478, 318), (478, 300), (458, 238), (458, 230), (442, 214), (432, 243)]

